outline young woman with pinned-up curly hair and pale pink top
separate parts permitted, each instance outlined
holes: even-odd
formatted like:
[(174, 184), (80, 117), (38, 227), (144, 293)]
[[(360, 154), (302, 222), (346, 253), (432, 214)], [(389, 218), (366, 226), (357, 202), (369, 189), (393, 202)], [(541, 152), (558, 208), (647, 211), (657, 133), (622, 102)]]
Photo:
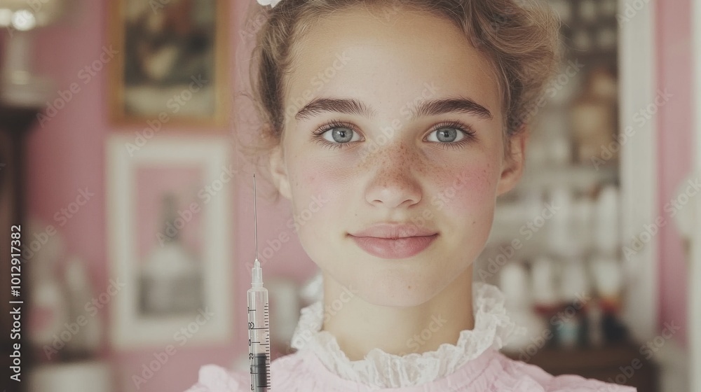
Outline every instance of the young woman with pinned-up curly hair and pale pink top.
[[(472, 282), (559, 61), (552, 14), (517, 0), (261, 12), (260, 139), (275, 188), (308, 218), (297, 233), (324, 284), (271, 391), (633, 391), (503, 356), (515, 325), (498, 289)], [(210, 365), (190, 391), (250, 389), (247, 372)]]

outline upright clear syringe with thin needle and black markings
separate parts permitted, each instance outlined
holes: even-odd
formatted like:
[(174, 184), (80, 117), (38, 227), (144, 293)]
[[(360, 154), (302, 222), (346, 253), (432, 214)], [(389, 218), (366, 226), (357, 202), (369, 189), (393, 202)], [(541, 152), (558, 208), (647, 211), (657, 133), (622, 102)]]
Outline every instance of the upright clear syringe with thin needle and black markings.
[(248, 358), (251, 361), (251, 391), (267, 392), (270, 388), (270, 317), (268, 290), (263, 287), (263, 269), (258, 261), (258, 217), (256, 215), (256, 175), (253, 174), (253, 216), (256, 258), (251, 288), (248, 290)]

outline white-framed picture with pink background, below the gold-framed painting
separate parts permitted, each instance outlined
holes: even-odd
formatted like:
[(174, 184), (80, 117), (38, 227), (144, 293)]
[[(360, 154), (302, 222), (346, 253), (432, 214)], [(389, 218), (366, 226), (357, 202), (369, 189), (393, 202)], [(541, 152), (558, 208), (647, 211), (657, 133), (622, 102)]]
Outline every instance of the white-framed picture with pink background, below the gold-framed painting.
[(229, 144), (161, 137), (135, 152), (132, 139), (107, 141), (109, 277), (120, 288), (111, 340), (121, 349), (222, 342), (231, 331)]

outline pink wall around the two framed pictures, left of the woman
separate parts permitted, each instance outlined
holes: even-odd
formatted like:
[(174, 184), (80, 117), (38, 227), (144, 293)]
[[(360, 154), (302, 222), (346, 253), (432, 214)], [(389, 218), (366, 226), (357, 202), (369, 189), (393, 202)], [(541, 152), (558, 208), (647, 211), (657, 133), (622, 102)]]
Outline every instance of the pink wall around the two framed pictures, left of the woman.
[[(29, 181), (28, 206), (32, 216), (53, 224), (66, 240), (67, 252), (79, 255), (89, 264), (90, 275), (102, 293), (108, 285), (109, 255), (106, 239), (106, 198), (105, 198), (105, 142), (111, 132), (133, 132), (143, 127), (115, 129), (107, 123), (107, 71), (102, 69), (88, 83), (79, 78), (83, 67), (93, 64), (100, 58), (102, 47), (107, 43), (107, 1), (81, 1), (79, 15), (70, 22), (39, 31), (36, 39), (36, 71), (51, 76), (57, 83), (55, 90), (67, 90), (77, 82), (81, 90), (50, 118), (43, 127), (37, 127), (29, 140)], [(232, 45), (240, 42), (238, 25), (244, 15), (246, 1), (232, 1), (231, 39)], [(235, 48), (231, 48), (233, 57)], [(115, 57), (116, 58), (116, 57)], [(54, 99), (54, 98), (52, 98)], [(185, 132), (198, 134), (208, 130), (191, 129)], [(228, 143), (228, 134), (222, 130), (222, 143)], [(162, 131), (163, 132), (163, 131)], [(158, 134), (157, 137), (164, 137)], [(166, 136), (167, 137), (167, 136)], [(236, 243), (231, 262), (235, 265), (231, 280), (235, 288), (233, 313), (235, 330), (231, 342), (210, 346), (189, 346), (179, 349), (163, 369), (157, 372), (139, 391), (184, 391), (197, 379), (200, 365), (217, 363), (229, 366), (235, 356), (245, 349), (246, 317), (245, 291), (250, 287), (250, 273), (245, 262), (254, 254), (252, 230), (252, 178), (239, 174), (232, 202), (235, 202), (231, 220), (236, 232)], [(261, 184), (259, 183), (259, 186)], [(58, 227), (54, 214), (73, 202), (79, 189), (88, 188), (95, 193), (89, 202), (64, 225)], [(266, 239), (277, 238), (280, 232), (287, 232), (292, 238), (266, 263), (266, 276), (284, 275), (302, 281), (313, 272), (313, 263), (308, 260), (292, 231), (285, 223), (290, 218), (286, 203), (269, 206), (259, 195), (259, 239), (261, 247)], [(250, 230), (247, 230), (250, 228)], [(99, 316), (109, 323), (109, 309), (103, 309)], [(124, 384), (120, 391), (136, 391), (131, 383), (132, 374), (140, 374), (142, 365), (153, 360), (157, 351), (164, 347), (154, 347), (128, 352), (116, 352), (104, 338), (102, 356), (112, 358), (118, 369), (118, 382)]]

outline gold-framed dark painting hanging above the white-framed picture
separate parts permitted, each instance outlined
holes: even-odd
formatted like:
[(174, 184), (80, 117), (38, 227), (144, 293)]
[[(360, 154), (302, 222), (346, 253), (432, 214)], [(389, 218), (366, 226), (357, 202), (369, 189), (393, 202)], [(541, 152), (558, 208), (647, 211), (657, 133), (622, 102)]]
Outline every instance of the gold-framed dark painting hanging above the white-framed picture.
[(224, 127), (227, 0), (110, 1), (108, 105), (114, 125)]

